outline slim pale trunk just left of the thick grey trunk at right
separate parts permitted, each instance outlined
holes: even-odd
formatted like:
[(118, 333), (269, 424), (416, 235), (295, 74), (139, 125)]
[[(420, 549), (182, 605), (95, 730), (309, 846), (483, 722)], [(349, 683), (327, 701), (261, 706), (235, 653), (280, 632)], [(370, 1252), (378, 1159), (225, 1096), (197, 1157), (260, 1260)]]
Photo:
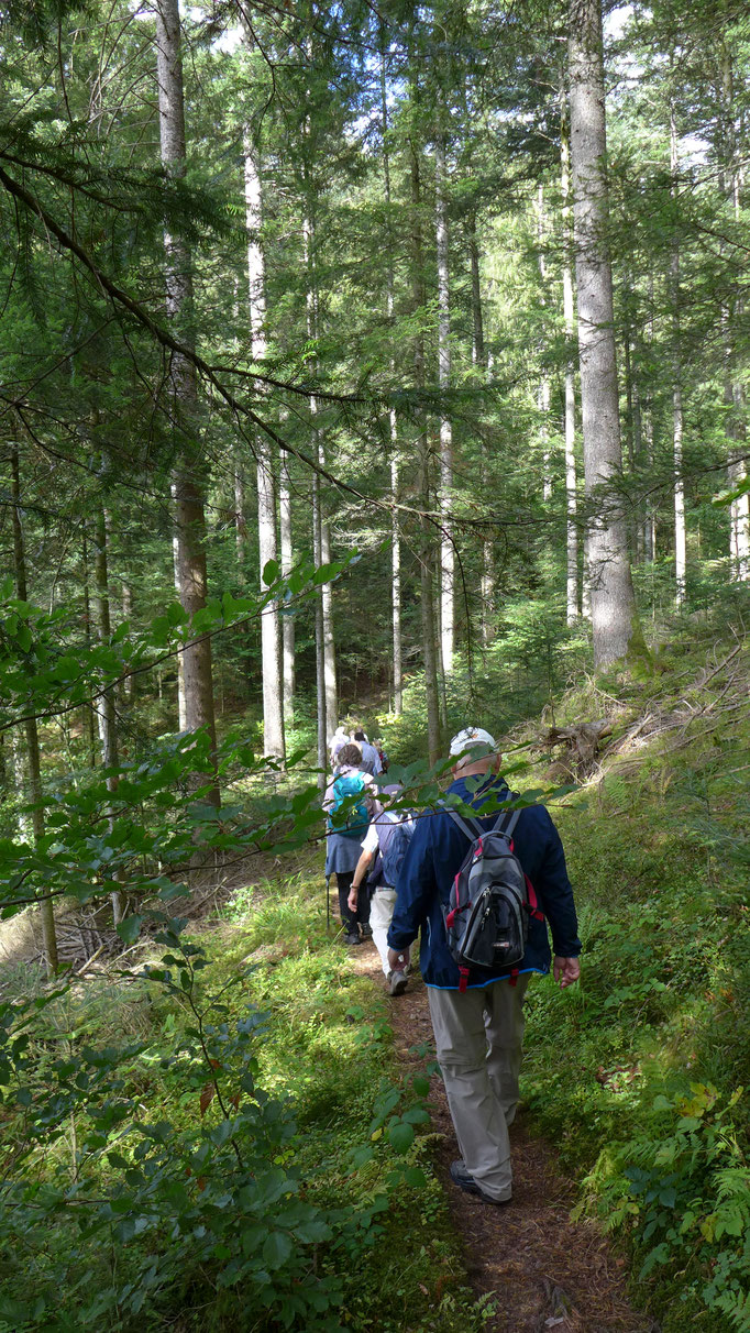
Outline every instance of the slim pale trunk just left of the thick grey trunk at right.
[[(575, 305), (573, 300), (573, 204), (570, 195), (570, 121), (565, 84), (560, 99), (560, 175), (562, 191), (562, 317), (565, 340), (573, 348)], [(565, 564), (566, 620), (573, 625), (578, 601), (578, 479), (575, 469), (575, 361), (565, 360)]]

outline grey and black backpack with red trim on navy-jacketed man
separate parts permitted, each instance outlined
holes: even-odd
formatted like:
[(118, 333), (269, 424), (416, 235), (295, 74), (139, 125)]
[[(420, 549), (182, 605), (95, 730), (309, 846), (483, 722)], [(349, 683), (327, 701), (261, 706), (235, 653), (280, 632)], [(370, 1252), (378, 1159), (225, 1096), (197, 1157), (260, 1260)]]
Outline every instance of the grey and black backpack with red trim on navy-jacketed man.
[[(461, 974), (460, 990), (466, 989), (472, 968), (513, 969), (526, 952), (529, 917), (544, 921), (532, 881), (513, 852), (520, 813), (504, 810), (485, 832), (478, 821), (446, 810), (470, 842), (442, 909), (448, 948)], [(517, 976), (516, 968), (513, 985)]]

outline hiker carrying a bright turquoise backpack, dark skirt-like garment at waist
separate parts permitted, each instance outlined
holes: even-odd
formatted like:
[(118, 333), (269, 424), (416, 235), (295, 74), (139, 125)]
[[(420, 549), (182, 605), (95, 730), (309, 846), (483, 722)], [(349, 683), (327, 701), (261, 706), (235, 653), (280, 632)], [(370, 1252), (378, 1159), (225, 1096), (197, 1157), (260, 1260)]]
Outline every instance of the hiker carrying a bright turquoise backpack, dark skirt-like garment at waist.
[(336, 876), (345, 944), (361, 944), (372, 936), (366, 896), (362, 896), (354, 910), (348, 902), (360, 860), (360, 844), (370, 820), (382, 809), (377, 800), (377, 786), (369, 773), (362, 773), (361, 762), (358, 745), (353, 742), (342, 745), (338, 750), (336, 776), (329, 782), (322, 801), (322, 808), (328, 812), (325, 877), (328, 880), (332, 874)]

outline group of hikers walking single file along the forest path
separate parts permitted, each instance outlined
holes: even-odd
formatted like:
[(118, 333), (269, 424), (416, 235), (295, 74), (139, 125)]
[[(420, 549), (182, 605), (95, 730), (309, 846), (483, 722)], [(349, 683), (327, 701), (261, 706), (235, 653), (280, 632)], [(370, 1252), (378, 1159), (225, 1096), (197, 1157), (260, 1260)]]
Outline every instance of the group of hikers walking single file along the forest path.
[[(370, 750), (380, 768), (370, 766)], [(392, 996), (406, 989), (420, 936), (420, 970), (461, 1150), (450, 1176), (466, 1193), (501, 1205), (513, 1194), (508, 1129), (518, 1102), (529, 978), (552, 968), (561, 988), (571, 985), (581, 941), (562, 842), (546, 808), (524, 805), (510, 792), (500, 746), (484, 728), (462, 728), (449, 753), (453, 781), (444, 802), (420, 814), (389, 809), (381, 797), (397, 797), (400, 786), (376, 782), (378, 748), (364, 730), (338, 728), (324, 798), (325, 873), (336, 874), (345, 942), (372, 937)]]

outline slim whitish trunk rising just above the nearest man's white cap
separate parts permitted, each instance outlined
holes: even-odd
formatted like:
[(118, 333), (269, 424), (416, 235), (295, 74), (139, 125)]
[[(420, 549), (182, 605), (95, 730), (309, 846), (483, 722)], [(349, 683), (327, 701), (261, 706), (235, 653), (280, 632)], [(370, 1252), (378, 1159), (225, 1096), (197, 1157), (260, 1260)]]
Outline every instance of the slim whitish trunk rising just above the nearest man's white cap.
[[(448, 205), (445, 201), (445, 140), (438, 135), (436, 167), (437, 239), (437, 375), (441, 393), (450, 388), (450, 288), (448, 267)], [(444, 535), (440, 545), (440, 645), (442, 673), (453, 670), (456, 605), (454, 552), (450, 511), (453, 507), (453, 427), (445, 403), (440, 416), (440, 512)]]

